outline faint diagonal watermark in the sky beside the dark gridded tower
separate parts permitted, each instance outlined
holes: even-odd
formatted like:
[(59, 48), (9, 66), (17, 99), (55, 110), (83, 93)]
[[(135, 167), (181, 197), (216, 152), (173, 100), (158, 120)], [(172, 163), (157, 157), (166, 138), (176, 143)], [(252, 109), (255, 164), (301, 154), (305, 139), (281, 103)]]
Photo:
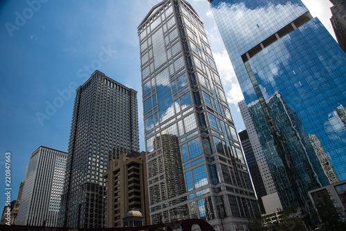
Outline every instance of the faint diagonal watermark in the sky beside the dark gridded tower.
[(91, 74), (97, 70), (102, 68), (102, 63), (108, 62), (111, 57), (116, 53), (116, 50), (113, 50), (111, 48), (111, 45), (108, 45), (106, 48), (105, 46), (101, 46), (101, 52), (98, 55), (97, 59), (93, 59), (93, 61), (90, 62), (89, 65), (84, 65), (83, 68), (78, 69), (76, 75), (78, 79), (80, 79), (78, 82), (70, 82), (69, 86), (67, 86), (66, 89), (58, 89), (57, 97), (54, 98), (53, 101), (49, 102), (46, 100), (46, 109), (44, 112), (37, 111), (35, 113), (37, 120), (39, 120), (39, 124), (41, 126), (44, 126), (44, 120), (49, 120), (55, 113), (57, 113), (57, 109), (61, 109), (64, 107), (64, 104), (66, 101), (70, 100), (73, 92), (75, 92), (75, 89), (78, 88), (78, 85), (84, 84), (86, 80), (89, 79)]

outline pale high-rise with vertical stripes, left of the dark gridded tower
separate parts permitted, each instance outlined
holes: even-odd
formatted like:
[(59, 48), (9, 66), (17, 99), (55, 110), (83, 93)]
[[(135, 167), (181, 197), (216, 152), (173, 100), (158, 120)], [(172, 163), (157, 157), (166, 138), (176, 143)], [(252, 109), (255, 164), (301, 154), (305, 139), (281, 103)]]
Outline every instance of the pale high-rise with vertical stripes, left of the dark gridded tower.
[(31, 154), (16, 225), (57, 226), (66, 157), (65, 151), (44, 146)]

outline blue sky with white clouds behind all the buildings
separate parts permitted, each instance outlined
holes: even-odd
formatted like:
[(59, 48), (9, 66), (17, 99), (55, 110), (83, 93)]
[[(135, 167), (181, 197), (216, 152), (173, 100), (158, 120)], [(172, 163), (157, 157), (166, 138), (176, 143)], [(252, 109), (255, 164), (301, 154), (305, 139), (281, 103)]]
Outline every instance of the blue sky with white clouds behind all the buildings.
[[(67, 151), (75, 98), (73, 85), (83, 84), (95, 68), (138, 91), (140, 149), (145, 150), (137, 26), (160, 1), (1, 1), (1, 211), (6, 202), (6, 151), (11, 152), (11, 199), (15, 200), (30, 154), (39, 145)], [(242, 92), (208, 1), (189, 2), (204, 21), (237, 131), (244, 130), (235, 106), (242, 100)], [(331, 3), (303, 2), (332, 31)]]

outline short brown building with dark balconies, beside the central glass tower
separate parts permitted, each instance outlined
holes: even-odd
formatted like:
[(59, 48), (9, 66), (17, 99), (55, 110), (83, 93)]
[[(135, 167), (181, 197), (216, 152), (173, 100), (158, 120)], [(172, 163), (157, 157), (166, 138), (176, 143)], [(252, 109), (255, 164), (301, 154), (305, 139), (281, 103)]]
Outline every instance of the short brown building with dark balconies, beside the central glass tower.
[[(150, 225), (145, 151), (121, 154), (104, 172), (104, 228)], [(124, 222), (123, 219), (125, 219)], [(138, 225), (140, 224), (140, 225)]]

